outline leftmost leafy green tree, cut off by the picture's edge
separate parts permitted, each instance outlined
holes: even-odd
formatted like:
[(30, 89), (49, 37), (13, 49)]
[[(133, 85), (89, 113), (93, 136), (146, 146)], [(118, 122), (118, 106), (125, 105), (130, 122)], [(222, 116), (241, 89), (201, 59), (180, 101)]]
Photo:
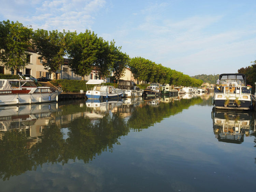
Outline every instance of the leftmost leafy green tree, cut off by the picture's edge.
[(17, 70), (27, 65), (27, 50), (31, 47), (33, 29), (9, 20), (0, 22), (0, 59), (6, 69)]

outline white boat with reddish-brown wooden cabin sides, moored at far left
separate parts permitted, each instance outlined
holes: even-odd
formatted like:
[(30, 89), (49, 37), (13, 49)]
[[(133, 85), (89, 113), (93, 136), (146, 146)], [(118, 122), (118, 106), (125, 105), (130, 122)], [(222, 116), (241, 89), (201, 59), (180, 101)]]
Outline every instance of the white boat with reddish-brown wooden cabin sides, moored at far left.
[(37, 87), (32, 80), (0, 79), (0, 106), (58, 101), (61, 88)]

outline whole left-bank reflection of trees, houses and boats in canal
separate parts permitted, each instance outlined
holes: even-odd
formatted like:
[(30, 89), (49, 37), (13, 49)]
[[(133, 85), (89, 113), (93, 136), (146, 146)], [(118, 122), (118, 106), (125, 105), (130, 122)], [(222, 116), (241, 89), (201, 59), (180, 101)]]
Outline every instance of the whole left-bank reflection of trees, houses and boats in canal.
[(46, 163), (89, 163), (104, 151), (112, 152), (121, 136), (148, 129), (201, 102), (201, 97), (178, 96), (1, 108), (0, 178), (37, 171)]

